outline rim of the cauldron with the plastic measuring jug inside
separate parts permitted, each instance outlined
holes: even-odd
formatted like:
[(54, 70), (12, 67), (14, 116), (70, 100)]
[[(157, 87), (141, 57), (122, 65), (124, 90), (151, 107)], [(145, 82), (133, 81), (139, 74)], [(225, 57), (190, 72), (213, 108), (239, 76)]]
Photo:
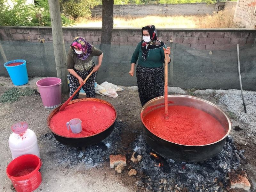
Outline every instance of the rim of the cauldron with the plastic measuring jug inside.
[(71, 105), (71, 104), (73, 104), (73, 103), (77, 103), (77, 102), (80, 102), (80, 101), (99, 101), (99, 102), (101, 102), (101, 103), (105, 103), (105, 104), (107, 104), (108, 106), (110, 106), (110, 107), (115, 111), (115, 119), (113, 120), (112, 124), (111, 124), (110, 126), (108, 126), (108, 128), (104, 129), (104, 130), (101, 131), (101, 132), (98, 132), (98, 133), (93, 134), (93, 135), (85, 136), (85, 137), (66, 137), (66, 136), (60, 135), (60, 134), (58, 134), (58, 133), (56, 133), (56, 132), (54, 132), (54, 131), (52, 130), (52, 128), (51, 128), (51, 126), (50, 126), (50, 121), (51, 121), (52, 116), (54, 116), (54, 115), (59, 111), (60, 107), (63, 105), (63, 103), (62, 103), (62, 104), (60, 104), (57, 108), (53, 109), (52, 112), (49, 114), (49, 116), (48, 116), (48, 118), (47, 118), (47, 125), (48, 125), (48, 128), (50, 129), (50, 131), (51, 131), (52, 133), (54, 133), (55, 135), (58, 135), (58, 136), (60, 136), (60, 137), (63, 137), (63, 138), (68, 138), (68, 139), (90, 138), (90, 137), (96, 136), (96, 135), (98, 135), (98, 134), (100, 134), (100, 133), (102, 133), (102, 132), (108, 130), (108, 129), (116, 122), (116, 118), (117, 118), (116, 109), (115, 109), (115, 108), (113, 107), (113, 105), (110, 104), (108, 101), (105, 101), (105, 100), (102, 100), (102, 99), (97, 99), (97, 98), (82, 98), (82, 99), (72, 100), (72, 101), (69, 102), (68, 105)]

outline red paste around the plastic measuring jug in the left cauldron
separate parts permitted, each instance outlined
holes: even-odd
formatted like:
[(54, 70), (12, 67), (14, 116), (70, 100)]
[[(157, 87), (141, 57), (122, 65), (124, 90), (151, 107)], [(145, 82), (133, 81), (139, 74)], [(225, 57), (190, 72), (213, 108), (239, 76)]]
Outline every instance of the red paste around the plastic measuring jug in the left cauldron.
[[(82, 132), (74, 134), (68, 131), (66, 123), (78, 118), (82, 121)], [(60, 136), (81, 138), (106, 130), (114, 123), (116, 111), (109, 105), (99, 101), (80, 101), (58, 111), (50, 120), (50, 127)]]

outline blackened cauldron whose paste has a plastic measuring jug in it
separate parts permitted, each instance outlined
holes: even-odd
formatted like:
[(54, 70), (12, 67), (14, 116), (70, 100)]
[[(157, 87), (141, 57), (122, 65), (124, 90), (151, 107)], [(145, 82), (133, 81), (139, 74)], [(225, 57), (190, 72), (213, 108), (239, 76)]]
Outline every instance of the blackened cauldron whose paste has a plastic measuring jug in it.
[[(72, 103), (80, 102), (80, 101), (97, 101), (97, 102), (107, 104), (111, 108), (114, 109), (115, 114), (116, 114), (116, 109), (110, 103), (108, 103), (107, 101), (101, 100), (101, 99), (96, 99), (96, 98), (76, 99), (76, 100), (70, 101), (69, 105), (72, 104)], [(51, 120), (51, 118), (54, 114), (58, 113), (61, 106), (62, 106), (62, 104), (59, 107), (55, 108), (50, 113), (50, 115), (48, 116), (48, 119), (47, 119), (47, 124), (48, 124), (48, 127), (51, 130), (52, 134), (54, 135), (55, 139), (57, 141), (59, 141), (60, 143), (64, 144), (64, 145), (69, 145), (69, 146), (72, 146), (72, 147), (86, 147), (86, 146), (89, 146), (89, 145), (97, 144), (100, 141), (107, 138), (108, 135), (110, 135), (110, 133), (113, 131), (113, 129), (115, 127), (116, 117), (115, 117), (115, 120), (113, 121), (113, 124), (110, 125), (107, 129), (105, 129), (104, 131), (102, 131), (100, 133), (94, 134), (92, 136), (81, 137), (81, 138), (70, 138), (70, 137), (60, 136), (60, 135), (58, 135), (58, 133), (54, 132), (52, 130), (52, 128), (50, 127), (50, 120)], [(102, 115), (104, 115), (104, 114), (102, 114)], [(63, 128), (66, 129), (65, 126)]]

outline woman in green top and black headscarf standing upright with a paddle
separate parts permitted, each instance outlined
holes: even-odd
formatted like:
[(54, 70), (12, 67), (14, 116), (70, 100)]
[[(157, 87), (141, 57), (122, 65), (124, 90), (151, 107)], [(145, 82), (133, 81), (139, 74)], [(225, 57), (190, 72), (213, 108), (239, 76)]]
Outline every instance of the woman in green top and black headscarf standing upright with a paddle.
[(143, 41), (138, 43), (132, 55), (131, 70), (133, 76), (136, 68), (137, 84), (141, 106), (149, 100), (164, 95), (164, 54), (168, 54), (167, 61), (171, 61), (170, 47), (157, 39), (156, 28), (148, 25), (141, 29)]

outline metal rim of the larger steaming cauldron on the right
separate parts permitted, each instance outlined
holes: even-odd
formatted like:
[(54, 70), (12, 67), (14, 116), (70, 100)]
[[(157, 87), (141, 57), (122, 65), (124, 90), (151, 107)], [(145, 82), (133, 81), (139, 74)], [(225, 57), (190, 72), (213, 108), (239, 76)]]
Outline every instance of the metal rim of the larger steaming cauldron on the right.
[[(217, 105), (213, 104), (213, 103), (210, 102), (210, 101), (207, 101), (207, 100), (204, 100), (204, 99), (201, 99), (201, 98), (198, 98), (198, 97), (190, 96), (190, 95), (168, 95), (168, 98), (169, 98), (169, 97), (188, 97), (188, 98), (193, 98), (193, 99), (201, 100), (201, 101), (203, 101), (203, 102), (206, 102), (206, 103), (212, 105), (213, 107), (215, 107), (215, 108), (217, 108), (218, 110), (220, 110), (220, 112), (221, 112), (221, 113), (225, 116), (225, 118), (227, 119), (227, 121), (228, 121), (228, 132), (227, 132), (227, 133), (225, 134), (225, 136), (223, 136), (221, 139), (219, 139), (219, 140), (217, 140), (217, 141), (215, 141), (215, 142), (213, 142), (213, 143), (208, 143), (208, 144), (205, 144), (205, 145), (184, 145), (184, 144), (180, 144), (180, 143), (175, 143), (175, 142), (172, 142), (172, 141), (168, 141), (168, 140), (163, 139), (162, 137), (159, 137), (158, 135), (152, 133), (152, 132), (147, 128), (147, 126), (144, 124), (143, 118), (142, 118), (142, 114), (143, 114), (143, 111), (146, 109), (146, 106), (147, 106), (148, 103), (151, 103), (152, 101), (158, 100), (158, 99), (160, 99), (160, 98), (164, 98), (164, 96), (160, 96), (160, 97), (156, 97), (156, 98), (154, 98), (154, 99), (149, 100), (147, 103), (145, 103), (145, 105), (144, 105), (144, 106), (141, 108), (141, 110), (140, 110), (140, 119), (141, 119), (142, 124), (144, 125), (144, 127), (145, 127), (149, 132), (151, 132), (151, 133), (152, 133), (153, 135), (155, 135), (156, 137), (158, 137), (158, 138), (160, 138), (160, 139), (162, 139), (162, 140), (165, 140), (165, 141), (167, 141), (167, 142), (170, 142), (170, 143), (173, 143), (173, 144), (176, 144), (176, 145), (180, 145), (180, 146), (202, 147), (202, 146), (208, 146), (208, 145), (212, 145), (212, 144), (218, 143), (218, 142), (222, 141), (223, 139), (225, 139), (225, 138), (228, 136), (229, 132), (231, 131), (231, 122), (230, 122), (228, 116), (225, 114), (225, 112), (224, 112), (222, 109), (220, 109)], [(199, 110), (200, 110), (200, 109), (199, 109)]]

